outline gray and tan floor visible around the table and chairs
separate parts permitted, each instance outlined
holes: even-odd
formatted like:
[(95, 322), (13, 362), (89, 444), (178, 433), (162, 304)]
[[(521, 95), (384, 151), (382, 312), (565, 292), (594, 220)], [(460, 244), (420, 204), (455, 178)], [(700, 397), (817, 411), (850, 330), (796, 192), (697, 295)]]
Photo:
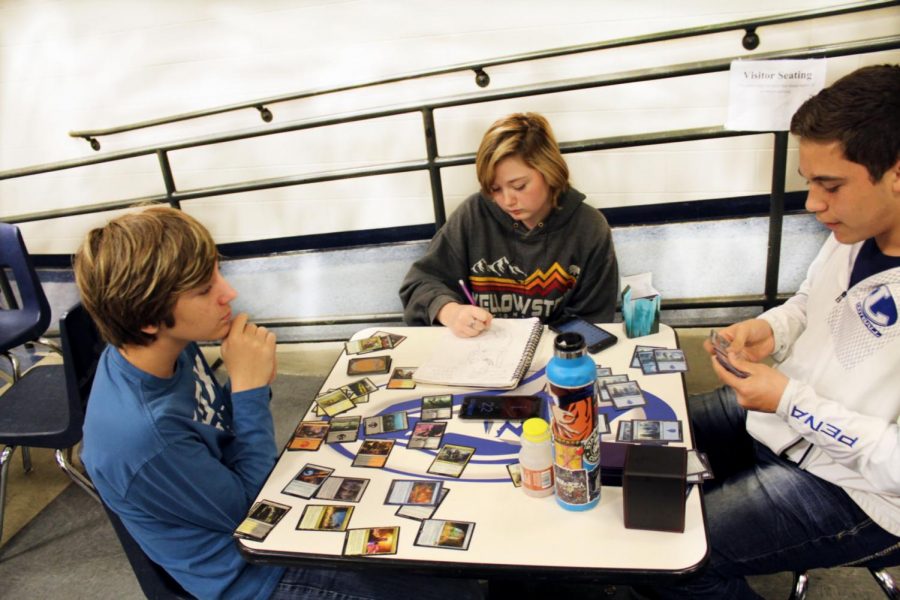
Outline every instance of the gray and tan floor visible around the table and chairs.
[[(712, 384), (704, 373), (699, 339), (703, 330), (680, 331), (689, 350), (691, 390)], [(281, 344), (279, 379), (273, 400), (276, 437), (284, 441), (305, 412), (330, 371), (341, 345), (335, 342)], [(215, 348), (208, 350), (215, 355)], [(140, 588), (100, 507), (68, 480), (49, 453), (33, 450), (35, 469), (24, 475), (18, 458), (11, 465), (8, 512), (0, 546), (0, 599), (140, 599)], [(16, 505), (19, 508), (13, 510)], [(900, 568), (891, 569), (900, 579)], [(767, 600), (787, 598), (791, 575), (779, 573), (751, 579)], [(575, 591), (577, 589), (577, 591)], [(631, 598), (627, 588), (581, 586), (565, 595), (579, 598)], [(556, 597), (550, 594), (547, 597)], [(492, 596), (493, 597), (493, 596)], [(531, 597), (542, 597), (541, 594)], [(863, 569), (811, 572), (810, 599), (878, 599), (883, 594)], [(518, 600), (522, 600), (521, 597)]]

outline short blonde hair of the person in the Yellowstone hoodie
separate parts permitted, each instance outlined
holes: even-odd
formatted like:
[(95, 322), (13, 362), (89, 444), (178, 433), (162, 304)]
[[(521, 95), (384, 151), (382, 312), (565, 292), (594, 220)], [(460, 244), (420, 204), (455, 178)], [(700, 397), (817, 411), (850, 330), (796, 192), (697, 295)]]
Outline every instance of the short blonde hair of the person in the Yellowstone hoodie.
[(486, 197), (491, 196), (497, 164), (509, 156), (518, 156), (544, 176), (556, 206), (559, 195), (569, 188), (569, 167), (547, 119), (537, 113), (513, 113), (488, 128), (475, 158), (478, 183)]

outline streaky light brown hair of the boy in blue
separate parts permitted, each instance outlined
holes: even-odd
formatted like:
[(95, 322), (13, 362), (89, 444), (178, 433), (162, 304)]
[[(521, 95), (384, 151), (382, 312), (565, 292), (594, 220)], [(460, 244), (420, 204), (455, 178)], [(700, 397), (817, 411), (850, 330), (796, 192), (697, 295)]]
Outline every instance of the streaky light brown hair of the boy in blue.
[(148, 325), (175, 325), (178, 297), (212, 280), (209, 231), (180, 210), (154, 206), (91, 230), (74, 259), (84, 307), (110, 344), (146, 346)]

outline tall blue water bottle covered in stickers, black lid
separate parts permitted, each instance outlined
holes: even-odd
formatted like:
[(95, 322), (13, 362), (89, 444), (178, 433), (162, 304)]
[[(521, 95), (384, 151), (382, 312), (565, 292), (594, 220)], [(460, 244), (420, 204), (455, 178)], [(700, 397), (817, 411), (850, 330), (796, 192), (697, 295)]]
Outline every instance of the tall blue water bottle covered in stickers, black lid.
[(580, 333), (556, 336), (547, 364), (556, 501), (567, 510), (600, 502), (597, 365)]

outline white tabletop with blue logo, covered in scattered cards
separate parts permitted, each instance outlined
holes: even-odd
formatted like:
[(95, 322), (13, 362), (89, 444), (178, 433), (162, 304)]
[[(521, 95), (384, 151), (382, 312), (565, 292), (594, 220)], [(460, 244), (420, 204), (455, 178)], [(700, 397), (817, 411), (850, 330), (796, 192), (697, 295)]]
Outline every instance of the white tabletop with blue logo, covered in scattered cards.
[[(691, 434), (683, 377), (679, 373), (645, 376), (629, 363), (636, 344), (677, 347), (674, 331), (665, 325), (660, 332), (642, 338), (628, 339), (621, 324), (603, 325), (619, 338), (618, 343), (593, 355), (601, 366), (613, 373), (624, 373), (640, 383), (649, 399), (646, 407), (630, 411), (601, 408), (611, 421), (611, 433), (603, 436), (613, 441), (619, 418), (676, 418), (684, 424), (683, 445), (691, 448)], [(440, 327), (388, 327), (366, 329), (353, 339), (369, 337), (375, 331), (389, 331), (407, 336), (398, 347), (366, 356), (390, 354), (394, 367), (415, 367), (432, 351), (435, 340), (444, 333)], [(531, 394), (546, 384), (543, 370), (552, 356), (554, 334), (545, 330), (529, 374), (523, 384), (508, 394)], [(359, 376), (346, 374), (348, 356), (342, 353), (322, 390), (340, 387)], [(410, 430), (418, 420), (422, 396), (454, 394), (454, 417), (448, 421), (444, 442), (466, 445), (473, 439), (492, 448), (494, 454), (476, 453), (458, 479), (426, 473), (436, 451), (410, 450), (405, 447), (409, 431), (396, 436), (397, 443), (386, 468), (352, 467), (351, 461), (364, 439), (349, 444), (323, 444), (315, 452), (285, 451), (268, 477), (257, 500), (268, 499), (291, 506), (281, 522), (261, 541), (238, 540), (245, 557), (253, 562), (288, 565), (334, 565), (347, 561), (347, 566), (393, 564), (434, 574), (466, 574), (486, 577), (511, 574), (527, 569), (531, 573), (592, 577), (595, 579), (646, 580), (648, 577), (672, 577), (697, 570), (706, 560), (708, 546), (705, 518), (699, 489), (687, 498), (685, 530), (668, 533), (626, 529), (623, 524), (622, 489), (604, 486), (600, 503), (585, 512), (562, 509), (553, 496), (532, 498), (509, 479), (506, 464), (516, 461), (518, 445), (514, 432), (503, 423), (493, 423), (489, 431), (483, 421), (457, 418), (458, 404), (464, 395), (484, 392), (471, 388), (446, 388), (419, 384), (412, 390), (388, 390), (389, 374), (369, 376), (379, 386), (370, 401), (360, 404), (345, 415), (366, 416), (408, 409)], [(603, 406), (603, 405), (601, 405)], [(298, 421), (301, 415), (298, 415)], [(615, 418), (611, 418), (615, 417)], [(324, 417), (323, 417), (324, 418)], [(306, 420), (315, 420), (309, 413)], [(521, 423), (511, 425), (521, 426)], [(501, 431), (502, 429), (502, 431)], [(497, 435), (500, 438), (497, 438)], [(376, 438), (389, 435), (373, 436)], [(470, 444), (471, 445), (471, 444)], [(349, 523), (350, 528), (400, 526), (398, 551), (393, 556), (347, 558), (341, 556), (345, 534), (342, 532), (298, 531), (295, 529), (305, 504), (346, 504), (319, 499), (304, 500), (282, 493), (285, 485), (307, 463), (332, 467), (334, 475), (370, 480), (368, 489)], [(476, 523), (468, 551), (414, 546), (417, 521), (396, 516), (397, 506), (385, 505), (384, 499), (393, 479), (444, 479), (450, 490), (434, 518)]]

